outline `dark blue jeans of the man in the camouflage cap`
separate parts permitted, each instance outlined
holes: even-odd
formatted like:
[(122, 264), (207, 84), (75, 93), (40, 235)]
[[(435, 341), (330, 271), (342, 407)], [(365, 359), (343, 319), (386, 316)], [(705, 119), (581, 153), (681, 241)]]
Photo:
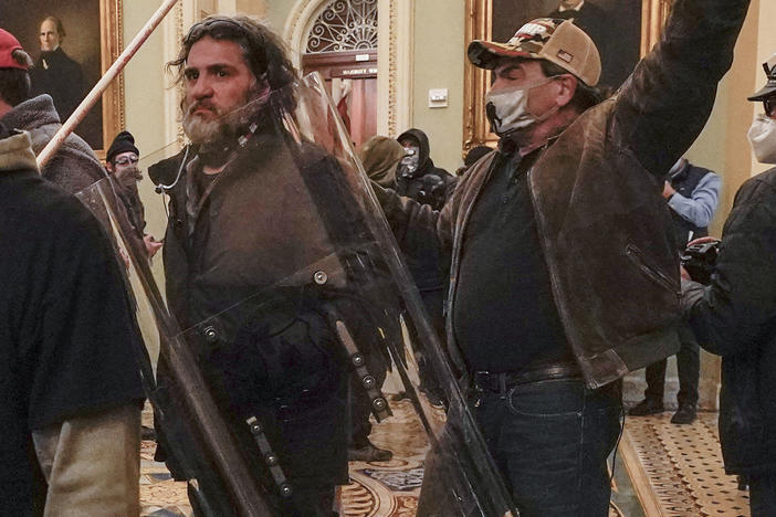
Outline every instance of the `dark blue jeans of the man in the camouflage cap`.
[(521, 517), (609, 515), (621, 386), (562, 379), (475, 393), (475, 418)]

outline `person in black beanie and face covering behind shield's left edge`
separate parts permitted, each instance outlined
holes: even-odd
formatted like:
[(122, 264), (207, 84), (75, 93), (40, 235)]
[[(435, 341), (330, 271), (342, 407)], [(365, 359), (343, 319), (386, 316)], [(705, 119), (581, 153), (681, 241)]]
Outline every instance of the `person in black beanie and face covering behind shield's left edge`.
[(161, 247), (154, 235), (145, 232), (146, 218), (137, 182), (143, 173), (137, 168), (140, 151), (135, 147), (135, 137), (129, 131), (122, 131), (113, 139), (105, 156), (105, 168), (114, 179), (114, 188), (127, 212), (129, 224), (138, 239), (143, 239), (148, 257), (153, 257)]

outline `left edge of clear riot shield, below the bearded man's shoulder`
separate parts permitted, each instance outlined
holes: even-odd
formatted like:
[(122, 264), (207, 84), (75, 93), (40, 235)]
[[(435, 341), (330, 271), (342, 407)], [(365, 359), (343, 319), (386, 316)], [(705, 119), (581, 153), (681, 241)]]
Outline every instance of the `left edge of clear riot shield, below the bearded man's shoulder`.
[[(76, 197), (92, 211), (111, 239), (116, 260), (124, 271), (128, 302), (135, 314), (137, 366), (146, 394), (154, 407), (155, 428), (161, 433), (170, 430), (166, 442), (175, 477), (188, 482), (188, 494), (197, 515), (274, 515), (265, 495), (253, 483), (249, 464), (235, 446), (221, 412), (211, 395), (191, 347), (182, 340), (180, 327), (170, 316), (151, 272), (143, 235), (130, 222), (127, 209), (117, 194), (112, 178), (101, 180), (78, 192)], [(157, 365), (166, 366), (169, 383), (179, 389), (174, 402), (168, 389), (159, 388)], [(176, 412), (174, 408), (180, 409)], [(176, 420), (185, 414), (180, 425)], [(188, 449), (197, 452), (190, 454)], [(229, 514), (218, 514), (200, 486), (203, 469), (200, 457), (209, 458), (234, 502)]]

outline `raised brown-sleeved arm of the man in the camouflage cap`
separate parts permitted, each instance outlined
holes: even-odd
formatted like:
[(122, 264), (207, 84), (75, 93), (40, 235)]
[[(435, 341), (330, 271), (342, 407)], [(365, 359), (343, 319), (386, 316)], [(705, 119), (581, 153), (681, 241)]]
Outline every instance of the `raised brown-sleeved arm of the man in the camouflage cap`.
[(706, 124), (748, 0), (675, 0), (662, 38), (617, 95), (611, 137), (663, 177)]

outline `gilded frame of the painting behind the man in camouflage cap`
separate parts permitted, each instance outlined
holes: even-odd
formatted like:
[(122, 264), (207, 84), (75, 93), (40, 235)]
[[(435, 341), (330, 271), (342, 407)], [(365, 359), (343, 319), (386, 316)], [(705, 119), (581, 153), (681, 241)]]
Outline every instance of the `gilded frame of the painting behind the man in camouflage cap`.
[[(670, 0), (642, 0), (641, 55), (658, 42), (668, 17)], [(491, 40), (492, 0), (466, 0), (465, 44), (472, 40)], [(463, 68), (463, 152), (480, 145), (495, 146), (499, 137), (491, 133), (485, 117), (485, 93), (489, 71), (478, 68), (469, 60)]]

